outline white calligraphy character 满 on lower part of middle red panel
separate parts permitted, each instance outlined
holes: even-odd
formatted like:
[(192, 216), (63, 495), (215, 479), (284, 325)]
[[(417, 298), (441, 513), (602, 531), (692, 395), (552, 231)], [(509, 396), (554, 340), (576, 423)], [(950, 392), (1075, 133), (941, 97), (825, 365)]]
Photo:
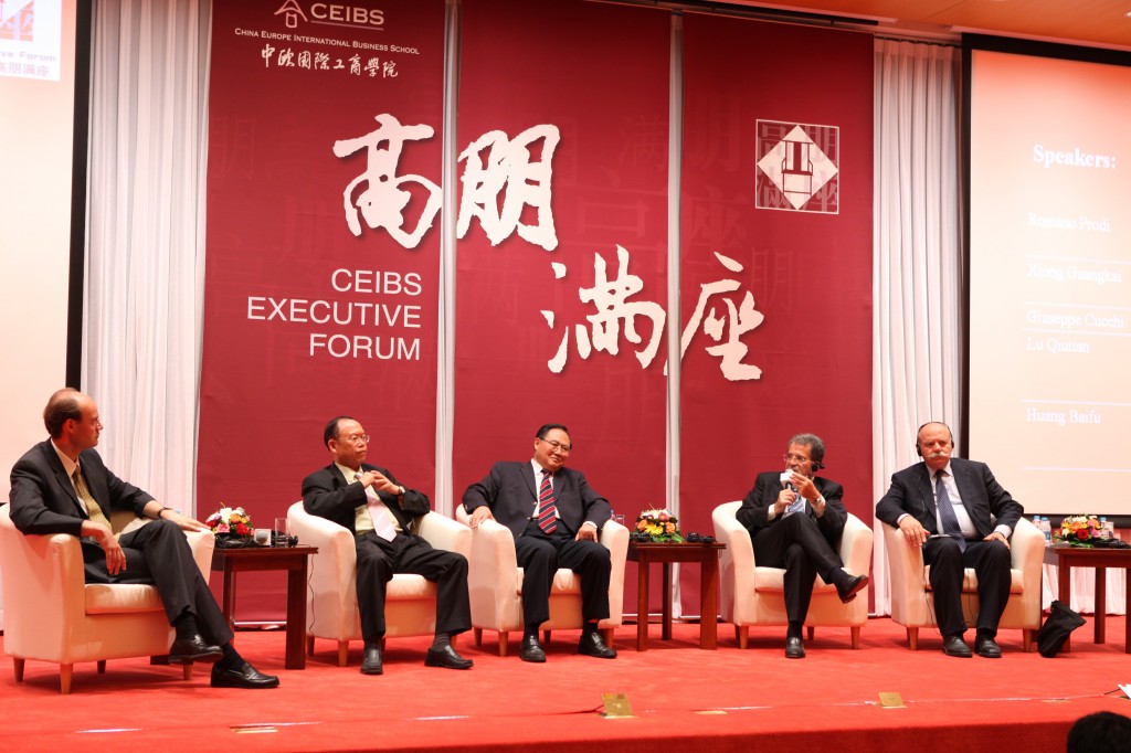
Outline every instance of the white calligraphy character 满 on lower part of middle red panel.
[[(644, 289), (644, 280), (636, 275), (628, 274), (629, 252), (621, 245), (616, 246), (616, 259), (618, 276), (616, 279), (610, 280), (605, 260), (599, 253), (594, 254), (594, 286), (578, 289), (578, 297), (581, 302), (593, 303), (597, 313), (586, 317), (592, 326), (592, 334), (584, 324), (575, 324), (577, 350), (581, 358), (588, 358), (592, 350), (603, 350), (610, 355), (616, 355), (620, 349), (622, 324), (624, 338), (629, 343), (639, 344), (644, 338), (637, 332), (636, 319), (637, 317), (647, 317), (651, 320), (651, 336), (644, 349), (636, 352), (637, 361), (647, 369), (659, 350), (667, 314), (658, 303), (628, 301), (629, 297)], [(563, 265), (553, 265), (553, 267), (555, 277), (564, 277), (566, 268)], [(542, 315), (553, 327), (553, 312), (543, 311)], [(555, 374), (560, 374), (566, 367), (569, 328), (562, 336), (558, 353), (546, 364), (550, 371)]]

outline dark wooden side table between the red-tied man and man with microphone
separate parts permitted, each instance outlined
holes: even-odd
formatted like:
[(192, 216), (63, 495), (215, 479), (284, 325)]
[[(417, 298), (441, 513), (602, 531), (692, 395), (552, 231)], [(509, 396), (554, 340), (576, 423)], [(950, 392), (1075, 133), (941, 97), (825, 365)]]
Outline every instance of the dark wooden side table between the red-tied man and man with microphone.
[(654, 562), (663, 564), (664, 604), (661, 637), (672, 640), (672, 563), (699, 563), (699, 648), (714, 651), (718, 638), (718, 553), (725, 544), (654, 544), (629, 542), (628, 559), (639, 566), (637, 580), (637, 650), (648, 649), (648, 575)]

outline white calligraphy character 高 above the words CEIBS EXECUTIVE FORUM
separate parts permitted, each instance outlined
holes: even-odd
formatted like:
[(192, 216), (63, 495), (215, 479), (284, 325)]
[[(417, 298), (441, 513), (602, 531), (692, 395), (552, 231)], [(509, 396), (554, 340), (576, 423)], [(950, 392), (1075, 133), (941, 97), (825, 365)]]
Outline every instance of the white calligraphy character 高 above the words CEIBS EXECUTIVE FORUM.
[[(424, 233), (432, 227), (432, 220), (440, 210), (440, 187), (421, 175), (397, 176), (397, 163), (405, 141), (421, 141), (431, 138), (435, 131), (423, 123), (402, 126), (399, 120), (383, 113), (374, 120), (379, 123), (375, 130), (359, 138), (334, 142), (334, 154), (338, 157), (346, 157), (361, 149), (366, 149), (369, 155), (365, 172), (351, 181), (343, 192), (346, 224), (351, 233), (361, 235), (357, 216), (360, 210), (371, 228), (383, 227), (403, 246), (415, 249)], [(428, 199), (416, 226), (406, 231), (404, 210), (413, 199), (413, 192), (402, 187), (413, 183), (425, 189)], [(354, 192), (361, 185), (365, 188), (355, 199)]]

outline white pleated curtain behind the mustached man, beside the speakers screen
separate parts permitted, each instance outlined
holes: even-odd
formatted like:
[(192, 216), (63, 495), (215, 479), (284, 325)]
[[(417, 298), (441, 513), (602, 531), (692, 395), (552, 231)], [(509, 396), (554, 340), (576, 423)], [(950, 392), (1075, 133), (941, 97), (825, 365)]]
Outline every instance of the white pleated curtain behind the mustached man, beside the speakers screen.
[[(915, 430), (950, 424), (961, 453), (960, 51), (875, 42), (873, 497), (918, 458)], [(891, 614), (875, 522), (877, 614)]]

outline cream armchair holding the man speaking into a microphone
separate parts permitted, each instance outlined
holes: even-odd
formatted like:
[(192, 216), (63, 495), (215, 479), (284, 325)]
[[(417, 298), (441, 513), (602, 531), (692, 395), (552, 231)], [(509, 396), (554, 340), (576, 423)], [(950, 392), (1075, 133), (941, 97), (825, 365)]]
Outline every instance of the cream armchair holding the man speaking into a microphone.
[[(754, 561), (750, 531), (735, 517), (742, 502), (726, 502), (715, 508), (715, 539), (726, 544), (719, 553), (723, 620), (734, 623), (739, 648), (746, 648), (750, 625), (785, 625), (785, 569), (760, 566)], [(853, 575), (865, 575), (872, 566), (872, 530), (849, 513), (840, 537), (840, 561)], [(841, 604), (835, 586), (818, 575), (805, 625), (812, 639), (814, 628), (847, 626), (852, 647), (860, 648), (860, 629), (867, 622), (867, 591), (860, 591)]]

